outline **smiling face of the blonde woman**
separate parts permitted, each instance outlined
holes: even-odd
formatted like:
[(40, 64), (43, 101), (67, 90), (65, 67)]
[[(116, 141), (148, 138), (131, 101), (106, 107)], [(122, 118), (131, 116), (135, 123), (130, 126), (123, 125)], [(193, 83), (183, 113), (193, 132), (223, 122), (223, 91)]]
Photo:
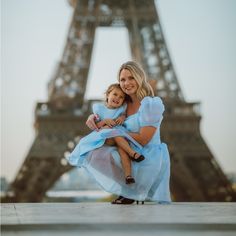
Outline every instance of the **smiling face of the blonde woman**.
[(132, 76), (129, 70), (123, 69), (120, 72), (120, 78), (119, 83), (121, 89), (127, 94), (127, 95), (134, 95), (137, 92), (138, 89), (138, 83)]

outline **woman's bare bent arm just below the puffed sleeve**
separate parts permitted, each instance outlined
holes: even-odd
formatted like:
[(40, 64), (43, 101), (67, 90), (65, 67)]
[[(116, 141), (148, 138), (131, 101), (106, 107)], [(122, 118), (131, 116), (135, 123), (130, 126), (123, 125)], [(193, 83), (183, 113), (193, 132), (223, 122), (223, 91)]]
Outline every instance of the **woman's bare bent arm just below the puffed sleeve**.
[(128, 133), (134, 140), (145, 146), (153, 137), (156, 132), (153, 126), (144, 126), (139, 130), (139, 133)]

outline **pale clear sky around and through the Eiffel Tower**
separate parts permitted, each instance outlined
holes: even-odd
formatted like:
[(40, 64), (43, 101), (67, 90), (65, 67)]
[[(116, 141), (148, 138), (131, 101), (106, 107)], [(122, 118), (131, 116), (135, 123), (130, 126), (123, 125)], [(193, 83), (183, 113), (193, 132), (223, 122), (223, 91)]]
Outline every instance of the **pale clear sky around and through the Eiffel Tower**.
[[(236, 172), (236, 1), (156, 2), (185, 99), (201, 102), (201, 134), (222, 169)], [(34, 140), (34, 108), (47, 101), (71, 17), (66, 0), (1, 1), (1, 175), (8, 180)], [(99, 28), (86, 97), (102, 97), (129, 59), (126, 29)]]

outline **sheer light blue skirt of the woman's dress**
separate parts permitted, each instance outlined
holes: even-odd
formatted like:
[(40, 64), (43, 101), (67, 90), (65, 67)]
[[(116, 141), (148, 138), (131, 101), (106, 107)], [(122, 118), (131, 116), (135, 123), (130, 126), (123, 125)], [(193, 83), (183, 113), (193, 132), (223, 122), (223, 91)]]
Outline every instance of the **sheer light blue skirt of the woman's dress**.
[[(139, 149), (134, 144), (134, 149)], [(140, 150), (139, 150), (140, 151)], [(82, 155), (76, 163), (83, 167), (107, 192), (126, 198), (169, 203), (170, 158), (167, 145), (150, 144), (141, 150), (145, 160), (132, 162), (134, 184), (125, 183), (124, 171), (116, 147), (103, 145)]]

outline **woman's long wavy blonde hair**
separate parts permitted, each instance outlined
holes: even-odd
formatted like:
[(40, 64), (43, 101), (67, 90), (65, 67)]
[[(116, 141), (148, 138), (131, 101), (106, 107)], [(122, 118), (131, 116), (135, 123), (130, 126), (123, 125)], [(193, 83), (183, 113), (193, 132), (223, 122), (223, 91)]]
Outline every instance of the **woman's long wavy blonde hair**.
[(138, 84), (136, 95), (139, 100), (142, 100), (146, 96), (154, 96), (153, 89), (147, 81), (146, 74), (137, 62), (128, 61), (122, 64), (118, 71), (118, 81), (120, 81), (120, 73), (124, 69), (128, 70), (132, 74)]

